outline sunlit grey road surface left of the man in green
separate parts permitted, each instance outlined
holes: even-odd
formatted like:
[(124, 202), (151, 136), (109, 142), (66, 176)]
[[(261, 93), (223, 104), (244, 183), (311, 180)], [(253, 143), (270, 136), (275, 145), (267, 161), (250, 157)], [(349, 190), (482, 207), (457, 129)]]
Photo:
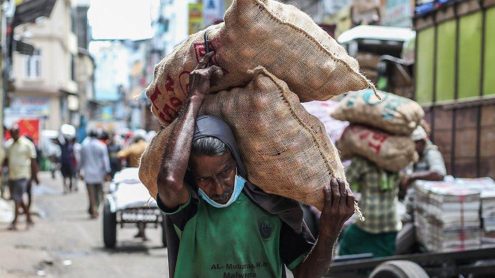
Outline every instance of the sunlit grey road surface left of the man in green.
[[(166, 277), (167, 251), (161, 228), (147, 229), (149, 241), (134, 239), (137, 229), (118, 229), (114, 250), (103, 247), (101, 216), (87, 213), (83, 182), (79, 191), (62, 194), (59, 173), (52, 180), (40, 173), (34, 193), (34, 227), (26, 230), (22, 215), (17, 231), (0, 223), (0, 277)], [(10, 204), (10, 203), (9, 203)]]

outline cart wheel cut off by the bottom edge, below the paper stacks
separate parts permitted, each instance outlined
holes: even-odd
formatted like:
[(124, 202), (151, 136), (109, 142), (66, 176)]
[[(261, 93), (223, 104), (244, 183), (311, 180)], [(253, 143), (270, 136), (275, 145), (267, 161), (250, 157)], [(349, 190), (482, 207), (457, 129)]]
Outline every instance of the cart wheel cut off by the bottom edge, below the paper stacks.
[(381, 263), (369, 278), (429, 278), (425, 269), (415, 262), (405, 260), (387, 261)]

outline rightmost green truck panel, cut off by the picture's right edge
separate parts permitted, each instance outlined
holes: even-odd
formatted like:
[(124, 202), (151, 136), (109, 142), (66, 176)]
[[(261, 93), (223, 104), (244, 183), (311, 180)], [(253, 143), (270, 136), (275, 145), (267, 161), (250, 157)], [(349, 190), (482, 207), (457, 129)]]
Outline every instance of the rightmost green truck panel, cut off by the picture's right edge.
[(495, 95), (495, 7), (485, 13), (483, 95)]

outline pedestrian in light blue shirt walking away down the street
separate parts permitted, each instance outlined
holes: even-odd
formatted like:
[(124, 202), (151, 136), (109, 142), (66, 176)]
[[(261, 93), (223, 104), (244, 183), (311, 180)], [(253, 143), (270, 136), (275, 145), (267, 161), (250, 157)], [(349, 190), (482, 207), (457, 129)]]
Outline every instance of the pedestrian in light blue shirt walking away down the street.
[(81, 170), (88, 190), (88, 211), (91, 218), (97, 218), (103, 197), (103, 182), (110, 180), (111, 168), (107, 145), (98, 140), (96, 131), (90, 131), (89, 137), (83, 141)]

